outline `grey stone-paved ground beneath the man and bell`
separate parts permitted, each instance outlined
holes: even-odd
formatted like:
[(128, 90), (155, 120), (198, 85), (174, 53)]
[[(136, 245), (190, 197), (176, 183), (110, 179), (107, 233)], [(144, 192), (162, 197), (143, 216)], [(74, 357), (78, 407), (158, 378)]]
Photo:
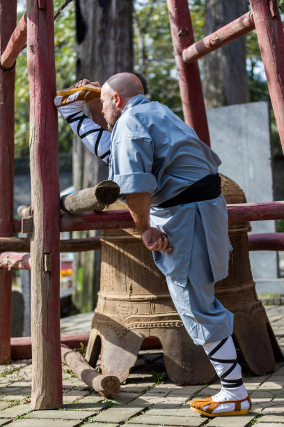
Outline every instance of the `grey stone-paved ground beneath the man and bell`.
[[(267, 315), (283, 349), (284, 306), (267, 306)], [(91, 317), (92, 314), (64, 319), (62, 329), (74, 332), (77, 319), (76, 331), (86, 331), (90, 328)], [(31, 361), (3, 364), (0, 365), (0, 426), (284, 426), (284, 362), (276, 364), (274, 373), (263, 377), (244, 377), (253, 410), (242, 417), (210, 419), (190, 410), (190, 400), (215, 393), (219, 389), (218, 382), (180, 387), (163, 375), (162, 352), (140, 352), (134, 370), (121, 386), (120, 394), (104, 399), (74, 377), (67, 366), (63, 366), (63, 409), (33, 411), (30, 405)]]

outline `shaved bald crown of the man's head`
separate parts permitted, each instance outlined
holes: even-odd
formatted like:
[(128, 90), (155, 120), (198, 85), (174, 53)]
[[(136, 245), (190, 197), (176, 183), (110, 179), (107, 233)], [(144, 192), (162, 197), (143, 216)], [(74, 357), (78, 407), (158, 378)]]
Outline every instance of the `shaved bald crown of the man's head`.
[(107, 82), (102, 85), (103, 92), (120, 93), (120, 95), (129, 100), (132, 96), (144, 94), (143, 85), (136, 75), (132, 73), (118, 73), (109, 78)]

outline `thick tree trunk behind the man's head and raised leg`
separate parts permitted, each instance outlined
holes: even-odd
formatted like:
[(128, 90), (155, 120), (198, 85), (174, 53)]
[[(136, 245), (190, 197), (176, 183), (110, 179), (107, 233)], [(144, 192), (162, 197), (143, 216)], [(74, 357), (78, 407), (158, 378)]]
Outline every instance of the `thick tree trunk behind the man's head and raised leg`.
[[(103, 84), (111, 75), (132, 72), (132, 0), (76, 0), (77, 80)], [(74, 139), (75, 190), (107, 179), (108, 167)], [(74, 232), (73, 237), (93, 237), (97, 232)], [(100, 251), (74, 256), (73, 303), (80, 311), (93, 310), (100, 289)]]

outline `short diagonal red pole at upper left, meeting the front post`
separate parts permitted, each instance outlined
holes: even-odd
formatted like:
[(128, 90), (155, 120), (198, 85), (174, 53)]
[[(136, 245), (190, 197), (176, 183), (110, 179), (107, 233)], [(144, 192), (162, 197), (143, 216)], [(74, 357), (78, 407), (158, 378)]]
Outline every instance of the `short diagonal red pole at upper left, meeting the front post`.
[(10, 40), (8, 41), (8, 45), (4, 50), (3, 54), (1, 54), (1, 67), (5, 70), (13, 67), (19, 52), (22, 51), (22, 48), (26, 44), (26, 13), (19, 20), (19, 24), (13, 31), (12, 36), (10, 36)]

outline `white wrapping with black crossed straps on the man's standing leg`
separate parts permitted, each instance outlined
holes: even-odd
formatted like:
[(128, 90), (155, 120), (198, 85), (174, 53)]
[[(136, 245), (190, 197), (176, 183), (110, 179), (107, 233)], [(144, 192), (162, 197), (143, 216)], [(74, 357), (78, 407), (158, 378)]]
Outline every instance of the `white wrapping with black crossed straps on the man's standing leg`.
[[(222, 384), (221, 391), (212, 396), (212, 400), (214, 402), (224, 402), (226, 400), (245, 399), (248, 394), (246, 387), (242, 384), (242, 368), (236, 361), (237, 354), (232, 337), (230, 336), (226, 340), (205, 344), (203, 348), (210, 358)], [(241, 410), (248, 410), (249, 406), (250, 404), (246, 400), (241, 403)], [(207, 407), (208, 405), (204, 407), (204, 410)], [(235, 403), (221, 403), (213, 412), (218, 414), (219, 412), (230, 412), (233, 410), (235, 410)]]

